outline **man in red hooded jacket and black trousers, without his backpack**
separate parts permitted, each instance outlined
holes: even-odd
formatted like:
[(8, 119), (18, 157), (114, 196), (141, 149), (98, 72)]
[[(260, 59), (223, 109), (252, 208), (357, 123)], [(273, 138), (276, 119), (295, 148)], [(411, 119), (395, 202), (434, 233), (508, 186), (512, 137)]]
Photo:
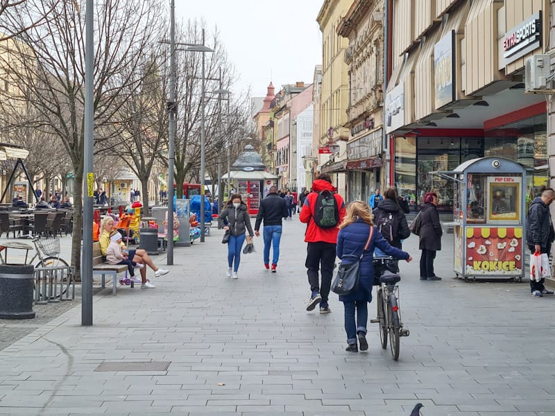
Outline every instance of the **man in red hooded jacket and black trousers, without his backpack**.
[[(310, 284), (311, 296), (307, 304), (307, 311), (312, 311), (316, 305), (320, 304), (320, 313), (330, 313), (330, 306), (327, 304), (327, 296), (330, 295), (332, 277), (335, 263), (335, 246), (337, 243), (337, 233), (339, 224), (345, 217), (345, 203), (343, 198), (336, 193), (332, 185), (332, 180), (327, 175), (320, 175), (312, 184), (314, 192), (309, 193), (300, 210), (299, 219), (301, 223), (307, 223), (305, 241), (307, 244), (307, 268), (308, 282)], [(334, 198), (339, 207), (339, 222), (336, 227), (321, 228), (314, 222), (314, 207), (318, 194), (321, 191), (334, 192)], [(318, 271), (322, 265), (322, 285), (318, 279)]]

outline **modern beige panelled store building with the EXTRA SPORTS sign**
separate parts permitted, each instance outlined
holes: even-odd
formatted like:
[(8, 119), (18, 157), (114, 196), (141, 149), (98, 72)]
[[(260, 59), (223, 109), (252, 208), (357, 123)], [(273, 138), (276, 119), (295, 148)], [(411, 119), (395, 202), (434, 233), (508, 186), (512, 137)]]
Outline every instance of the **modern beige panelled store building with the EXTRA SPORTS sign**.
[(524, 66), (549, 44), (549, 1), (393, 0), (391, 72), (384, 121), (391, 184), (416, 209), (427, 191), (452, 213), (449, 171), (469, 159), (506, 157), (536, 168), (527, 198), (545, 184), (547, 106), (525, 94)]

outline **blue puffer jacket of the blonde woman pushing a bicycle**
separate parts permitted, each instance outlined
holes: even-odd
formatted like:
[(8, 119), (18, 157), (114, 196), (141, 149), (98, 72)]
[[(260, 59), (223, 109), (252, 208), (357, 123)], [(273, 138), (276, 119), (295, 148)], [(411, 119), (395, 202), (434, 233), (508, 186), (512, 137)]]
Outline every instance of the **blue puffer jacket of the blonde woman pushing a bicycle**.
[[(364, 245), (368, 241), (370, 234), (370, 225), (364, 220), (357, 220), (355, 223), (349, 224), (347, 227), (339, 231), (337, 236), (336, 254), (339, 259), (343, 259), (345, 254), (353, 254), (357, 257), (362, 253), (360, 261), (360, 281), (359, 290), (355, 293), (345, 296), (339, 296), (341, 302), (351, 302), (353, 300), (372, 300), (372, 285), (374, 282), (374, 250), (379, 248), (382, 252), (395, 257), (396, 259), (407, 260), (409, 253), (399, 250), (390, 245), (382, 234), (379, 234), (377, 227), (374, 227), (374, 234), (368, 245), (368, 250), (363, 253)], [(356, 261), (354, 257), (345, 257), (344, 264), (350, 264)]]

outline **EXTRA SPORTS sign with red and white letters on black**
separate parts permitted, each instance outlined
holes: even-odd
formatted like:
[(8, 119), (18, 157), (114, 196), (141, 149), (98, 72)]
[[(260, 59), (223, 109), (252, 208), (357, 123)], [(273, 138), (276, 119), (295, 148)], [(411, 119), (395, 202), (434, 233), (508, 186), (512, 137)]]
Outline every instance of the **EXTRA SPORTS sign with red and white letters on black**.
[(505, 65), (514, 62), (542, 44), (542, 12), (534, 13), (503, 37), (503, 58)]

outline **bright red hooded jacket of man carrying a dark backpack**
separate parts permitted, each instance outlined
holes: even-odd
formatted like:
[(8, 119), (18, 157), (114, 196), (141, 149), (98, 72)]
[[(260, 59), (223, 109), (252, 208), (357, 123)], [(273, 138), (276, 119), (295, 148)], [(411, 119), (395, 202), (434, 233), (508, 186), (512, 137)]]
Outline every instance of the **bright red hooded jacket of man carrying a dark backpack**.
[[(343, 218), (345, 218), (345, 203), (343, 202), (343, 198), (339, 193), (336, 193), (336, 189), (330, 182), (326, 180), (317, 179), (312, 183), (312, 189), (314, 192), (311, 192), (307, 195), (305, 202), (302, 204), (302, 209), (300, 210), (299, 219), (301, 223), (307, 224), (307, 232), (305, 233), (305, 241), (307, 243), (337, 243), (337, 233), (339, 232), (339, 224), (343, 222)], [(316, 199), (318, 198), (318, 193), (321, 191), (332, 191), (334, 193), (334, 198), (337, 202), (337, 206), (339, 207), (339, 223), (337, 224), (338, 227), (332, 228), (321, 228), (314, 223), (314, 207), (316, 206)]]

